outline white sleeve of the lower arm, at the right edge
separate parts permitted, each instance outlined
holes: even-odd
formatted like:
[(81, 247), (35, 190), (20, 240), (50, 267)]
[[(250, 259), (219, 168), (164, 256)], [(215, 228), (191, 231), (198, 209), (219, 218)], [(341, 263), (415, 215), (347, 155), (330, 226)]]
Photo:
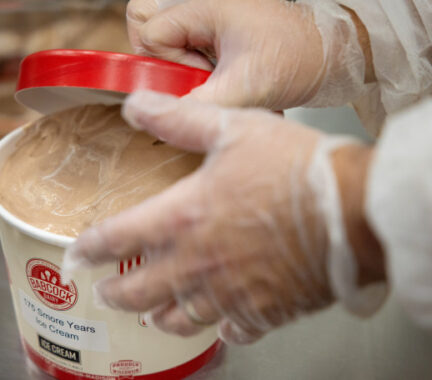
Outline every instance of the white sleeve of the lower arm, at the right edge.
[(396, 297), (414, 320), (432, 328), (432, 99), (387, 122), (366, 212), (386, 251)]

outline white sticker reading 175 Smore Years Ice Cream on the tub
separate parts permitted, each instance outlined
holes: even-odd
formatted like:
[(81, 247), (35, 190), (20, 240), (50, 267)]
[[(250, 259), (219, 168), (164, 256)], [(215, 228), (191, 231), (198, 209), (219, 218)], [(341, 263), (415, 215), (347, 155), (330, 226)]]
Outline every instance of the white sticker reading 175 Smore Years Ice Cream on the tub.
[(21, 312), (39, 334), (78, 350), (109, 352), (106, 323), (51, 310), (19, 290)]

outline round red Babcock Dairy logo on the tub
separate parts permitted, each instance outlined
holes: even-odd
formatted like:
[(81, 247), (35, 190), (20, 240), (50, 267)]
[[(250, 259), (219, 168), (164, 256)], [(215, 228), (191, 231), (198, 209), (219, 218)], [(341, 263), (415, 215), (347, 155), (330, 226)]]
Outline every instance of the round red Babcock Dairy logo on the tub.
[(55, 310), (68, 310), (78, 299), (78, 290), (73, 281), (63, 284), (60, 268), (49, 261), (31, 259), (26, 266), (27, 279), (34, 294), (47, 306)]

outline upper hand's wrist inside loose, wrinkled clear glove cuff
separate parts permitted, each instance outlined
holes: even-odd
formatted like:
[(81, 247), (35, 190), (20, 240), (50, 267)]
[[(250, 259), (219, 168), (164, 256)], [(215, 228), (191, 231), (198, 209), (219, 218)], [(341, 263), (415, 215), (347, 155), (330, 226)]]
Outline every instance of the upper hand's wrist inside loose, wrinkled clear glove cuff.
[[(313, 12), (312, 30), (321, 36), (319, 88), (306, 107), (340, 106), (360, 99), (374, 79), (368, 32), (356, 13), (333, 2), (305, 0)], [(307, 45), (306, 45), (307, 46)], [(371, 71), (372, 69), (372, 71)]]

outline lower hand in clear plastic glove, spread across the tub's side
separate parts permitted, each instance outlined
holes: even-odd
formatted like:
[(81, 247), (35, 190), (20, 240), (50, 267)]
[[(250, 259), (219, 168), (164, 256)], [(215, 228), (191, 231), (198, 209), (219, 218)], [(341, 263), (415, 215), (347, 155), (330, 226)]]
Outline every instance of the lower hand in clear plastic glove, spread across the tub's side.
[(143, 254), (144, 267), (96, 284), (99, 302), (147, 311), (181, 335), (219, 323), (230, 343), (333, 301), (326, 218), (310, 179), (316, 147), (329, 138), (262, 111), (152, 92), (132, 95), (124, 115), (207, 158), (162, 194), (84, 232), (65, 255), (66, 273)]

